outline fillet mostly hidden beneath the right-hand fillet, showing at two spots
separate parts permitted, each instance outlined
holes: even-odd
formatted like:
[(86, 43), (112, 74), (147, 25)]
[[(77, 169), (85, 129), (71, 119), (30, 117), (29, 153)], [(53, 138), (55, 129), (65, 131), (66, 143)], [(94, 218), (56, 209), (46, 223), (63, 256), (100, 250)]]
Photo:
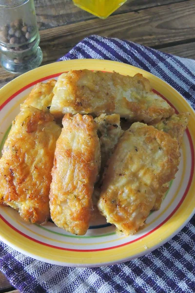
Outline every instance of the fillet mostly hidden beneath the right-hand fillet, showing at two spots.
[[(179, 144), (179, 147), (181, 147), (183, 134), (187, 128), (189, 116), (190, 116), (190, 113), (188, 112), (174, 114), (168, 119), (160, 121), (157, 124), (154, 124), (153, 126), (157, 128), (158, 130), (162, 130), (166, 133), (169, 133), (169, 135), (171, 135), (172, 138), (176, 138)], [(153, 210), (160, 209), (160, 206), (165, 197), (165, 194), (167, 190), (169, 189), (169, 184), (170, 182), (167, 182), (162, 186), (161, 189), (159, 189), (156, 195), (156, 202), (153, 207)]]

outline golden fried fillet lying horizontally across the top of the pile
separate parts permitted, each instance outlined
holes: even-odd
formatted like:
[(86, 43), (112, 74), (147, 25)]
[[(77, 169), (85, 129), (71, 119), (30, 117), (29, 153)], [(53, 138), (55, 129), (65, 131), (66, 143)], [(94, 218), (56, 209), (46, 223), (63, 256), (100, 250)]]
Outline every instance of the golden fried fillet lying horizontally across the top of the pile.
[(59, 76), (50, 108), (55, 117), (65, 113), (119, 114), (132, 121), (158, 122), (174, 109), (152, 91), (149, 80), (116, 72), (72, 70)]

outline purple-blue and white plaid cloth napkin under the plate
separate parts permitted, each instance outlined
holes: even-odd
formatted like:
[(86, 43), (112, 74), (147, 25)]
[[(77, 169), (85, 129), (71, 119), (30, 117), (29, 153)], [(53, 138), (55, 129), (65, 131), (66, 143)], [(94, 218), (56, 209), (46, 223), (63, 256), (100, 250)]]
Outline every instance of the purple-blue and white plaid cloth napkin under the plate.
[[(195, 61), (139, 44), (90, 36), (59, 61), (106, 59), (143, 68), (176, 88), (195, 108)], [(194, 293), (195, 216), (155, 251), (119, 265), (66, 268), (27, 257), (0, 242), (0, 270), (21, 293)]]

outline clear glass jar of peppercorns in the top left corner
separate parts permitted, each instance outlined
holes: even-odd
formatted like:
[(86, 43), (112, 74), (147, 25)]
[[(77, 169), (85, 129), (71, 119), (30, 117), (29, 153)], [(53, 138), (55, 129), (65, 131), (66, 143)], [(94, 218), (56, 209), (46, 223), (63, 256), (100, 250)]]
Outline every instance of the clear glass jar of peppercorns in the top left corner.
[(42, 62), (34, 0), (0, 0), (0, 63), (24, 73)]

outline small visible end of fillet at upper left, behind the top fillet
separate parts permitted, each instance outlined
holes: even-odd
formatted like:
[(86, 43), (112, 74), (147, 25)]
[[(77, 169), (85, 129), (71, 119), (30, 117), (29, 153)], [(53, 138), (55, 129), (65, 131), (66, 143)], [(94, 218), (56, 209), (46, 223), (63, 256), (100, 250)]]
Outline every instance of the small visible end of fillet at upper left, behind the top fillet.
[(49, 112), (49, 108), (54, 96), (53, 89), (56, 84), (56, 80), (52, 79), (47, 83), (36, 84), (29, 96), (24, 101), (23, 105), (33, 106), (44, 112)]

